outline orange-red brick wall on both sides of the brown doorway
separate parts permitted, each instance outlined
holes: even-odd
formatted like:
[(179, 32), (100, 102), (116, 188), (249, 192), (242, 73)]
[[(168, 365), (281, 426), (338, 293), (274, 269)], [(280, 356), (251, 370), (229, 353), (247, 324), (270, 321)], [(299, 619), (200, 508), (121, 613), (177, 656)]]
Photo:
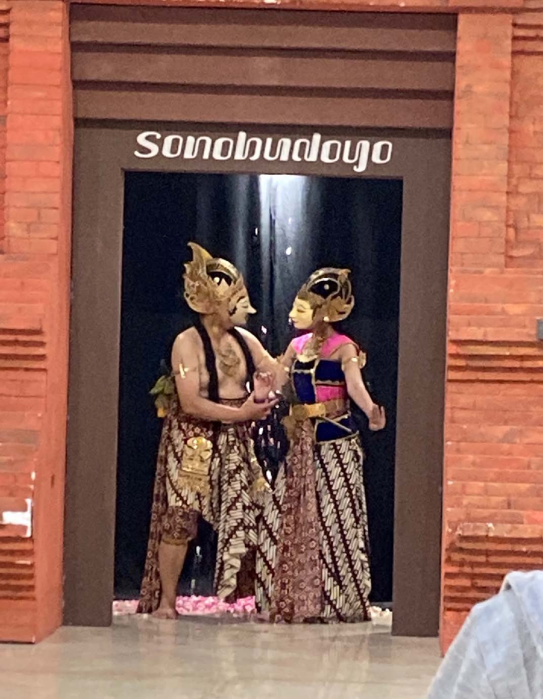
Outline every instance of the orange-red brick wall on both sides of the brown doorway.
[[(505, 572), (543, 567), (542, 27), (543, 0), (459, 20), (444, 647)], [(61, 621), (72, 138), (66, 3), (0, 0), (0, 640), (36, 640)]]

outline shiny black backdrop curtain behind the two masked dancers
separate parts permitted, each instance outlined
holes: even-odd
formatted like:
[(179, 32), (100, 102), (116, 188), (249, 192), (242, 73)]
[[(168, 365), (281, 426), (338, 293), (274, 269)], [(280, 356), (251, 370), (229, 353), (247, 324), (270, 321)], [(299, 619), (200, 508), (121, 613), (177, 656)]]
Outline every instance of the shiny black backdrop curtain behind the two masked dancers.
[[(398, 180), (296, 175), (126, 173), (115, 595), (138, 592), (149, 531), (161, 420), (150, 387), (175, 336), (194, 318), (182, 301), (189, 240), (233, 261), (258, 315), (251, 329), (270, 352), (292, 337), (296, 291), (321, 266), (352, 270), (356, 305), (341, 330), (368, 352), (365, 377), (386, 406), (382, 433), (360, 417), (367, 459), (373, 591), (392, 596), (394, 435), (402, 185)], [(210, 593), (213, 536), (201, 526), (180, 590)]]

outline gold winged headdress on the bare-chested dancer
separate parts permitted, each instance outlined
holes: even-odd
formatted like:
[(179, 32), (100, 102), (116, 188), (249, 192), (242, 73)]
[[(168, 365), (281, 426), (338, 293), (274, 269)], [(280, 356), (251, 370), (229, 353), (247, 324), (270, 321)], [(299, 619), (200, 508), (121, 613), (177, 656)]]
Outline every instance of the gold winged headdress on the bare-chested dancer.
[(197, 243), (189, 243), (192, 260), (184, 266), (184, 299), (197, 313), (212, 313), (245, 290), (242, 275), (228, 260), (211, 257)]

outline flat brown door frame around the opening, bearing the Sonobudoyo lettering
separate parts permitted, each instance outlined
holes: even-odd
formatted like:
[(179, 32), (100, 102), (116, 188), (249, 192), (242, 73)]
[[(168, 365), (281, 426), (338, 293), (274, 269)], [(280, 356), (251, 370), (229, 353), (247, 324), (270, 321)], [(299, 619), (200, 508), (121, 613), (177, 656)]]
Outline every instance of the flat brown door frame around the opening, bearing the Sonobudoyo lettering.
[[(135, 157), (143, 130), (231, 133), (230, 127), (163, 127), (81, 122), (75, 130), (65, 624), (108, 626), (112, 619), (124, 171), (355, 175), (352, 166), (332, 170), (319, 162), (228, 161), (218, 167)], [(347, 129), (319, 130), (329, 138), (349, 135)], [(312, 133), (268, 130), (286, 132)], [(262, 128), (251, 132), (263, 134)], [(370, 164), (363, 176), (403, 180), (393, 633), (432, 636), (440, 611), (451, 143), (448, 134), (384, 130), (379, 138), (392, 141), (391, 161)]]

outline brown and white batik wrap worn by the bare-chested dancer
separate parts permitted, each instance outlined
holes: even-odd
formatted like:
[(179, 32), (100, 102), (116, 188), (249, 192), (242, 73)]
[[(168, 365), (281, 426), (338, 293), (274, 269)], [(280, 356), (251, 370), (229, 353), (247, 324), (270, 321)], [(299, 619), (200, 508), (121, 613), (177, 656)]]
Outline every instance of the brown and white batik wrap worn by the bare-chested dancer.
[[(200, 466), (207, 462), (205, 475), (197, 468), (191, 470), (195, 458), (198, 467), (198, 456)], [(174, 399), (159, 446), (138, 612), (153, 612), (160, 603), (160, 542), (183, 544), (193, 539), (198, 517), (217, 532), (217, 596), (254, 594), (254, 556), (266, 488), (254, 458), (249, 425), (222, 424), (214, 429), (208, 421), (184, 415)], [(248, 580), (247, 570), (252, 570)]]

